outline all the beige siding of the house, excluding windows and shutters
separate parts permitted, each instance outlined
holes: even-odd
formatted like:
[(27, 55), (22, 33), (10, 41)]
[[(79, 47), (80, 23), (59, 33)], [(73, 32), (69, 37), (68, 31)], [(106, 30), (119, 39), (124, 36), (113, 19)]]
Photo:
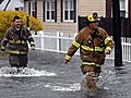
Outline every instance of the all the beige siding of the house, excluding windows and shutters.
[[(25, 9), (28, 12), (28, 0), (25, 1)], [(106, 16), (106, 2), (105, 0), (76, 0), (76, 17), (75, 22), (62, 22), (61, 14), (61, 0), (57, 0), (57, 21), (45, 22), (44, 19), (44, 1), (37, 0), (37, 19), (43, 22), (44, 30), (63, 32), (63, 33), (78, 33), (78, 16), (86, 16), (94, 11), (99, 15)]]

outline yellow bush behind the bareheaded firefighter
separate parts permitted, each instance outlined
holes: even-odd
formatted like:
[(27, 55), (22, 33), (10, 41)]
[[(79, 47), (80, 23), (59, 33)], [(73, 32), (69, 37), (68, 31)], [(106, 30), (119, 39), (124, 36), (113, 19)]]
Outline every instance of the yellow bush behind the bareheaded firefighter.
[(13, 17), (15, 15), (22, 19), (24, 26), (26, 26), (26, 19), (28, 16), (31, 30), (37, 32), (43, 29), (43, 24), (39, 20), (29, 16), (23, 11), (0, 11), (0, 39), (2, 39), (7, 29), (13, 24)]

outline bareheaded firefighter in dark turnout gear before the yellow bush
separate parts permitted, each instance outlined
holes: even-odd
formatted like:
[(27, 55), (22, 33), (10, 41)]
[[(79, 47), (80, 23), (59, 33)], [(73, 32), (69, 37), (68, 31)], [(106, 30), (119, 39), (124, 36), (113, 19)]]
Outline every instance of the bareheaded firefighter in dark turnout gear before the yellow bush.
[(28, 44), (35, 49), (35, 41), (29, 30), (23, 26), (20, 16), (14, 16), (14, 24), (7, 30), (1, 41), (1, 52), (9, 52), (9, 63), (15, 68), (27, 66)]

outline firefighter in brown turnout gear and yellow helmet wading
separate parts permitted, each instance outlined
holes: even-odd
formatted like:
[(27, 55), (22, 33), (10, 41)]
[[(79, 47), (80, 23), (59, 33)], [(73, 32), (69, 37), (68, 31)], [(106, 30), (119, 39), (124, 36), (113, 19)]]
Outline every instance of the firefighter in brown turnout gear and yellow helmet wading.
[(64, 58), (67, 64), (80, 48), (81, 70), (91, 90), (97, 88), (95, 77), (102, 72), (105, 57), (111, 52), (114, 47), (114, 41), (106, 30), (98, 27), (98, 21), (97, 13), (87, 15), (87, 26), (76, 35)]

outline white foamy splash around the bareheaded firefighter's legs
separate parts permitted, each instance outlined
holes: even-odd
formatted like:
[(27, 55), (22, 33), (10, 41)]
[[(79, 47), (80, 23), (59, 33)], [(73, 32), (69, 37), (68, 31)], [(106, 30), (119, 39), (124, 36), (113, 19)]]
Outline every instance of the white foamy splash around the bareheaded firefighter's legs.
[(0, 69), (0, 76), (5, 76), (5, 77), (27, 77), (27, 76), (56, 76), (55, 73), (47, 72), (47, 71), (38, 71), (29, 68), (1, 68)]

